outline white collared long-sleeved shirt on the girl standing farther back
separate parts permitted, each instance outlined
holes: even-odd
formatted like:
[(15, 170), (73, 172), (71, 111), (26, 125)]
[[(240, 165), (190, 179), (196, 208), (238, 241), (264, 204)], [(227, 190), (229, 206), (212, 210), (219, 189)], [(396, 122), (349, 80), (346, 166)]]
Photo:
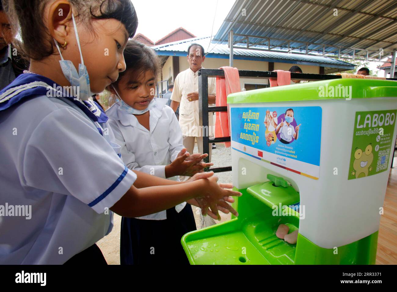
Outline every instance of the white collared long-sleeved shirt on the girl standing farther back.
[[(118, 103), (112, 105), (106, 114), (115, 135), (115, 142), (121, 146), (121, 159), (131, 170), (139, 170), (166, 178), (165, 167), (175, 160), (184, 148), (182, 132), (172, 108), (166, 105), (168, 99), (156, 98), (156, 105), (149, 110), (149, 130), (139, 124), (137, 118)], [(169, 178), (179, 181), (178, 176)], [(175, 206), (179, 213), (186, 202)], [(167, 211), (137, 217), (146, 220), (167, 219)]]

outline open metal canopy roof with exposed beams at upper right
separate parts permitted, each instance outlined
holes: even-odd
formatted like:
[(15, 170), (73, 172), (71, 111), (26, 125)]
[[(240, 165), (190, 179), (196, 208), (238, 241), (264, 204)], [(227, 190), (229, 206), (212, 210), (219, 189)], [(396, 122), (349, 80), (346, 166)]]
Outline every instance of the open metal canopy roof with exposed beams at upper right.
[[(336, 15), (337, 14), (337, 15)], [(288, 47), (317, 54), (338, 52), (366, 57), (382, 48), (384, 56), (397, 49), (396, 0), (236, 0), (214, 40), (227, 42), (228, 33), (272, 38), (273, 50)], [(276, 40), (281, 39), (281, 40)], [(247, 43), (246, 37), (234, 41)], [(249, 37), (249, 44), (264, 39)], [(286, 42), (287, 41), (287, 42)], [(266, 41), (267, 44), (267, 41)], [(268, 49), (268, 46), (266, 46)]]

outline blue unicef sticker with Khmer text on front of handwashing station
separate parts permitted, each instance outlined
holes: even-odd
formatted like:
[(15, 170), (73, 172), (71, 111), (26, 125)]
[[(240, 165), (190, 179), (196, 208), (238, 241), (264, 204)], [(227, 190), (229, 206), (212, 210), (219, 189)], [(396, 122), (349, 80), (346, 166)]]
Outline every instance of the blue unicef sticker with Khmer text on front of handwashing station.
[(231, 108), (232, 147), (257, 159), (318, 179), (320, 106)]

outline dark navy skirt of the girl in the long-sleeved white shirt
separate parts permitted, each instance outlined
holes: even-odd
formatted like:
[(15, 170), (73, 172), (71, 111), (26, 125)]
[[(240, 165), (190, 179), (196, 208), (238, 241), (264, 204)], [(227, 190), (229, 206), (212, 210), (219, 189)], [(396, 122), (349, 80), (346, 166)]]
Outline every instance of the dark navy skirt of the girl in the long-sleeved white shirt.
[(181, 245), (187, 232), (196, 230), (192, 207), (186, 204), (179, 213), (167, 209), (165, 220), (121, 219), (121, 265), (188, 265)]

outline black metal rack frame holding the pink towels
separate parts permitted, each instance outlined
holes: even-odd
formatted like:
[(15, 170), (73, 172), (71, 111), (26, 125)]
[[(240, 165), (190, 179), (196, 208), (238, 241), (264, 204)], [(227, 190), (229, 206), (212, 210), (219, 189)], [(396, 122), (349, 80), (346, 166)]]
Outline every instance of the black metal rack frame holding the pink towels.
[[(251, 70), (239, 70), (240, 78), (252, 78), (252, 79), (269, 79), (277, 78), (277, 72), (270, 71), (251, 71)], [(209, 112), (227, 112), (227, 106), (208, 106), (208, 77), (225, 77), (225, 72), (222, 69), (200, 69), (198, 70), (198, 102), (199, 102), (199, 125), (202, 127), (202, 143), (203, 152), (209, 154), (210, 145), (209, 143), (220, 143), (230, 142), (230, 136), (210, 138), (209, 137), (209, 125), (208, 125), (208, 113)], [(339, 79), (341, 75), (327, 75), (327, 74), (308, 74), (308, 73), (291, 73), (291, 80), (329, 80)], [(387, 78), (387, 80), (397, 80), (396, 78)], [(206, 131), (204, 131), (207, 129)], [(209, 157), (204, 159), (205, 162), (209, 162)], [(225, 172), (231, 171), (231, 166), (206, 168), (205, 171), (213, 172)]]

